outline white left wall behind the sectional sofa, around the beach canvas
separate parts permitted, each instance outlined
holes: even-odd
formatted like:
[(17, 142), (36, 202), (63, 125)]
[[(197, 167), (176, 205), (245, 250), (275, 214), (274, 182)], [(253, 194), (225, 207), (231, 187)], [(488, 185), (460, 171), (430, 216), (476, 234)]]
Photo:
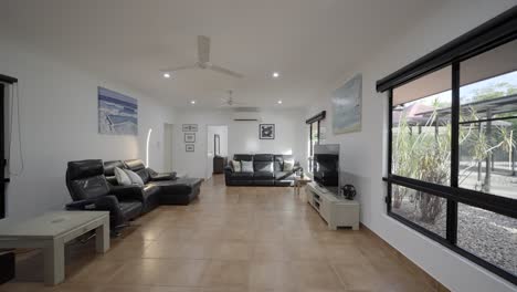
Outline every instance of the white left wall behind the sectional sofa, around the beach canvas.
[[(19, 79), (21, 150), (24, 169), (8, 187), (8, 219), (62, 209), (71, 201), (65, 186), (68, 160), (101, 158), (145, 159), (150, 138), (150, 167), (162, 169), (163, 123), (172, 111), (157, 101), (119, 84), (106, 82), (51, 59), (32, 54), (0, 38), (0, 71)], [(97, 134), (97, 86), (138, 100), (138, 136)], [(15, 133), (13, 134), (15, 136)], [(18, 144), (11, 167), (21, 166)]]

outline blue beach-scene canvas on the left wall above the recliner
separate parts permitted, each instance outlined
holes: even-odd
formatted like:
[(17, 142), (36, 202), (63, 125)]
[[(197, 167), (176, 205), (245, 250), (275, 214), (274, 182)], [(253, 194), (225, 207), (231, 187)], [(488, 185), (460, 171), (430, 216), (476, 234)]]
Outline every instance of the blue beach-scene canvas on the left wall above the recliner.
[(98, 133), (138, 135), (138, 101), (124, 94), (98, 87)]

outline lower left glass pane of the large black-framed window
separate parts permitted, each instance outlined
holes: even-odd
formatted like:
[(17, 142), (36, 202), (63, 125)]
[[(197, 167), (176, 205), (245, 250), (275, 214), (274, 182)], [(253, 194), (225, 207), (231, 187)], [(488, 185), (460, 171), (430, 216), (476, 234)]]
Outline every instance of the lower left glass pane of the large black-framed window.
[(393, 185), (391, 211), (445, 238), (446, 200), (441, 197)]

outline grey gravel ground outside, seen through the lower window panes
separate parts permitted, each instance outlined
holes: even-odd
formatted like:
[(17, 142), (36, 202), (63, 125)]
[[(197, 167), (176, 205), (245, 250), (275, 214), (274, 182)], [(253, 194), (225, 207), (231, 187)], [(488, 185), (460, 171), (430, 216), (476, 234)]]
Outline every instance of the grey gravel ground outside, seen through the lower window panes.
[[(404, 199), (392, 211), (445, 237), (445, 208), (434, 223), (419, 220), (415, 204)], [(457, 246), (517, 275), (517, 219), (460, 204)]]

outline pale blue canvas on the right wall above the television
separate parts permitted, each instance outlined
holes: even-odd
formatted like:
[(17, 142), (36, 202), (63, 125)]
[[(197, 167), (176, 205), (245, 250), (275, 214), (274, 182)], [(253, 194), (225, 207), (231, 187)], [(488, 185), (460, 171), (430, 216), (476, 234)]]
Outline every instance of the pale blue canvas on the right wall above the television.
[(361, 131), (362, 75), (357, 74), (331, 96), (333, 132), (345, 134)]

